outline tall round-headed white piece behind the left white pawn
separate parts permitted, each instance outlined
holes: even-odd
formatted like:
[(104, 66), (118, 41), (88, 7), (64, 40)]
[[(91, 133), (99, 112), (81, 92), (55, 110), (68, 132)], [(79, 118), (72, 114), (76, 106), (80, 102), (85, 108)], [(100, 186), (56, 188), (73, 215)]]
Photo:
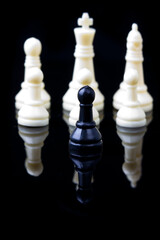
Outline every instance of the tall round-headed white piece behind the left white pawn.
[[(18, 92), (18, 94), (15, 96), (15, 106), (17, 109), (20, 109), (24, 102), (27, 95), (27, 74), (30, 68), (32, 67), (38, 67), (41, 68), (41, 61), (40, 61), (40, 54), (42, 50), (42, 44), (41, 42), (34, 38), (28, 38), (24, 43), (24, 52), (25, 52), (25, 73), (24, 73), (24, 82), (21, 84), (21, 90)], [(46, 109), (50, 108), (50, 100), (51, 97), (45, 90), (45, 84), (44, 82), (41, 83), (41, 95), (43, 104)]]

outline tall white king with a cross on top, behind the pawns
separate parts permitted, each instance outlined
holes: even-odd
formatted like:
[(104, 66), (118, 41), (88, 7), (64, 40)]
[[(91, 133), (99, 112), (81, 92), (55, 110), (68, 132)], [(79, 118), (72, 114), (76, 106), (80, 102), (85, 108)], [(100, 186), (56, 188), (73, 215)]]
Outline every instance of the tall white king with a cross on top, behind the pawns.
[(82, 68), (87, 68), (92, 74), (92, 82), (90, 87), (95, 91), (95, 100), (93, 105), (97, 111), (103, 111), (104, 108), (104, 96), (98, 89), (98, 83), (95, 80), (94, 66), (93, 66), (93, 39), (95, 35), (95, 29), (90, 28), (93, 24), (93, 19), (89, 18), (88, 13), (83, 13), (82, 18), (78, 19), (78, 25), (82, 27), (77, 27), (74, 29), (75, 38), (76, 38), (76, 47), (75, 47), (75, 64), (73, 70), (72, 81), (69, 83), (69, 89), (63, 96), (63, 109), (70, 112), (75, 103), (77, 102), (77, 92), (79, 90), (80, 84), (77, 81), (77, 75), (79, 70)]

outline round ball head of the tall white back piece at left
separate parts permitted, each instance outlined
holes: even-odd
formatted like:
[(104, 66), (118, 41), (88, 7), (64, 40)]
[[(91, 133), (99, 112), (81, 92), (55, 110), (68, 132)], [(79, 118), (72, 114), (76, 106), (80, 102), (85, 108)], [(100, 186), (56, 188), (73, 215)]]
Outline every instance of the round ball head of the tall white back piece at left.
[(28, 38), (24, 43), (24, 51), (29, 56), (39, 56), (42, 50), (41, 42), (34, 37)]

